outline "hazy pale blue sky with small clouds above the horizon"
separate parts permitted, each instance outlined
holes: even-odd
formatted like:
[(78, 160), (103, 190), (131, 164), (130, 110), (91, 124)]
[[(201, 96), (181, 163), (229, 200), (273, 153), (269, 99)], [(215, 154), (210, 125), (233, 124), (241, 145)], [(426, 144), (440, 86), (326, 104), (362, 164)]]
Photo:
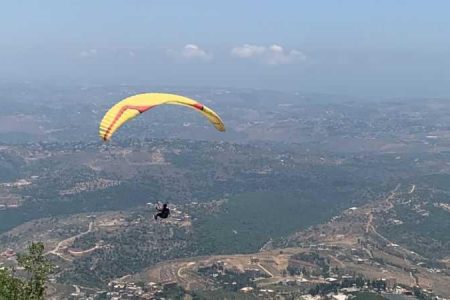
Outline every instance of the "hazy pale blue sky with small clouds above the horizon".
[(3, 0), (0, 79), (450, 96), (450, 1)]

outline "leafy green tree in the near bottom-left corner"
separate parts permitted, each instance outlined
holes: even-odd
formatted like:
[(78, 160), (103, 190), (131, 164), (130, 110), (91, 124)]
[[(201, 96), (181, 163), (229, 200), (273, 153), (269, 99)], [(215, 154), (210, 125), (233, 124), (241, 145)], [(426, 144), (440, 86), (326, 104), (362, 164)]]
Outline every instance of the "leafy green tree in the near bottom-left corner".
[(32, 243), (27, 253), (17, 256), (19, 266), (26, 274), (17, 277), (14, 270), (0, 270), (0, 299), (42, 300), (45, 295), (45, 283), (53, 266), (44, 256), (44, 245)]

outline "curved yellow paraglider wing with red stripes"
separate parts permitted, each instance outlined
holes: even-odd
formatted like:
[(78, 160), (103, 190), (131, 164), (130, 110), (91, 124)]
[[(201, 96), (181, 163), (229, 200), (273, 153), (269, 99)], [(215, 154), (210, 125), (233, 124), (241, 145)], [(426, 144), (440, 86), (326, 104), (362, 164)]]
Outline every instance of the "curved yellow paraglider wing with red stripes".
[(100, 137), (104, 141), (109, 140), (114, 132), (127, 121), (161, 104), (175, 104), (193, 108), (207, 117), (217, 130), (225, 131), (225, 125), (220, 117), (213, 110), (195, 100), (174, 94), (148, 93), (125, 98), (111, 107), (100, 122)]

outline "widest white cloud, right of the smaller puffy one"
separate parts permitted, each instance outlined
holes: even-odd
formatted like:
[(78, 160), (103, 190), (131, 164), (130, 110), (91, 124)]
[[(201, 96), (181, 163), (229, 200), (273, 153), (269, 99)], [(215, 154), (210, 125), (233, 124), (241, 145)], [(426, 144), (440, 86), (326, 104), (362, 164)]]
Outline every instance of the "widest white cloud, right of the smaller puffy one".
[(269, 65), (291, 64), (306, 59), (298, 50), (286, 51), (280, 45), (269, 47), (245, 44), (231, 49), (231, 55), (244, 59), (255, 59)]

